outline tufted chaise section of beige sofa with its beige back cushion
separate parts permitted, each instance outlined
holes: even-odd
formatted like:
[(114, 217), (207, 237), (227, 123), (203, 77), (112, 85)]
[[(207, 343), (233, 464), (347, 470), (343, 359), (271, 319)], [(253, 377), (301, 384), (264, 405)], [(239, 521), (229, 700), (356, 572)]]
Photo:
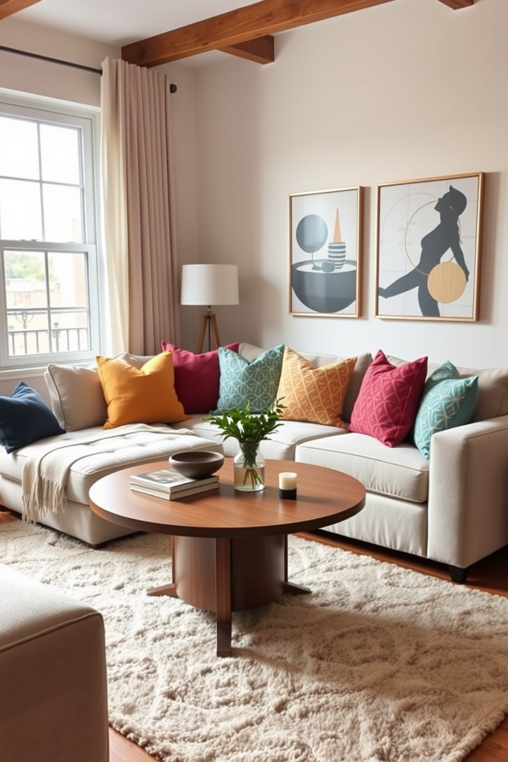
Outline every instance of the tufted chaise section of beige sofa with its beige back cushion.
[[(45, 374), (53, 413), (65, 434), (46, 437), (14, 452), (0, 447), (0, 504), (24, 513), (23, 495), (48, 466), (65, 469), (65, 510), (46, 506), (37, 520), (98, 548), (132, 530), (94, 514), (88, 490), (102, 476), (127, 466), (154, 463), (182, 450), (217, 450), (222, 444), (181, 427), (124, 425), (104, 430), (107, 405), (97, 370), (50, 365)], [(25, 483), (24, 483), (25, 482)], [(27, 483), (28, 482), (28, 483)]]

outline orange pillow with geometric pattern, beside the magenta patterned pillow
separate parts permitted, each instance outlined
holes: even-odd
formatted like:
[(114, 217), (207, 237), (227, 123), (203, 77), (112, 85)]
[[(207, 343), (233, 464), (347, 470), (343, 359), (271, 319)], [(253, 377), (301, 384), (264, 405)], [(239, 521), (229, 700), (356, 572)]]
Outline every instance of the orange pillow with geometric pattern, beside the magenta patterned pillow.
[(346, 427), (340, 415), (356, 357), (316, 368), (289, 347), (284, 351), (279, 399), (285, 408), (281, 418)]

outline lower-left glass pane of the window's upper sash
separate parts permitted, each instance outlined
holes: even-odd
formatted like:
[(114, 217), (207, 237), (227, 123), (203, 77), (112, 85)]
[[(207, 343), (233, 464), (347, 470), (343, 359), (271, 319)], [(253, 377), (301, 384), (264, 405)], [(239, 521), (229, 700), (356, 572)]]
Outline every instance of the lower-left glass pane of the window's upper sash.
[(39, 188), (37, 182), (0, 180), (0, 236), (3, 239), (42, 239)]

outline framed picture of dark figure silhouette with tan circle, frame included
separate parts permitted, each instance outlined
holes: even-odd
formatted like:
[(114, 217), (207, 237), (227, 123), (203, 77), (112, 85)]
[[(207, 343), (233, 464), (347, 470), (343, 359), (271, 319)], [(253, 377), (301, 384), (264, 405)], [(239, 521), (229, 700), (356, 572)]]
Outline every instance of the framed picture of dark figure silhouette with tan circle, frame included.
[(375, 317), (476, 321), (484, 173), (378, 185)]

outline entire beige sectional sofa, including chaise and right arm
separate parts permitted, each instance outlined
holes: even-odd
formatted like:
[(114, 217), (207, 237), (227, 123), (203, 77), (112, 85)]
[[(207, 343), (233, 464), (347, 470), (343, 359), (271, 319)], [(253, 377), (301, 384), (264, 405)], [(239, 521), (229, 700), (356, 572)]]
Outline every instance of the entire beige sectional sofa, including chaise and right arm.
[[(248, 360), (262, 351), (251, 344), (240, 345), (241, 354)], [(316, 367), (340, 359), (330, 354), (302, 354)], [(124, 359), (140, 366), (147, 358)], [(388, 359), (394, 364), (404, 362)], [(346, 421), (371, 362), (368, 353), (357, 357), (343, 404)], [(430, 365), (428, 372), (435, 367)], [(355, 476), (367, 488), (366, 507), (356, 517), (327, 530), (442, 562), (449, 565), (453, 579), (464, 581), (471, 564), (508, 543), (508, 369), (458, 370), (465, 376), (478, 375), (478, 405), (471, 423), (434, 434), (429, 460), (407, 441), (387, 447), (366, 434), (300, 421), (283, 421), (270, 440), (262, 443), (264, 456), (315, 463)], [(97, 387), (92, 406), (95, 427), (91, 432), (76, 428), (82, 423), (82, 415), (76, 415), (76, 411), (84, 409), (85, 395), (90, 396), (85, 380), (90, 382), (92, 376), (84, 379), (84, 369), (76, 370), (79, 383), (77, 379), (69, 382), (62, 400), (65, 385), (58, 373), (58, 367), (50, 367), (46, 381), (53, 411), (67, 434), (53, 439), (72, 443), (83, 434), (101, 439), (99, 424), (105, 412)], [(88, 373), (94, 370), (88, 369)], [(75, 431), (69, 431), (62, 406), (68, 417), (72, 411)], [(85, 409), (89, 414), (91, 403)], [(153, 431), (153, 427), (117, 433), (110, 452), (95, 452), (96, 446), (91, 443), (90, 453), (71, 466), (67, 510), (63, 514), (44, 514), (42, 523), (97, 546), (127, 533), (123, 527), (100, 520), (88, 507), (88, 489), (101, 475), (133, 463), (153, 462), (177, 450), (224, 447), (226, 456), (238, 451), (235, 440), (222, 445), (219, 432), (201, 415), (173, 424), (167, 434)], [(21, 482), (30, 447), (10, 455), (0, 452), (0, 502), (20, 512)]]

